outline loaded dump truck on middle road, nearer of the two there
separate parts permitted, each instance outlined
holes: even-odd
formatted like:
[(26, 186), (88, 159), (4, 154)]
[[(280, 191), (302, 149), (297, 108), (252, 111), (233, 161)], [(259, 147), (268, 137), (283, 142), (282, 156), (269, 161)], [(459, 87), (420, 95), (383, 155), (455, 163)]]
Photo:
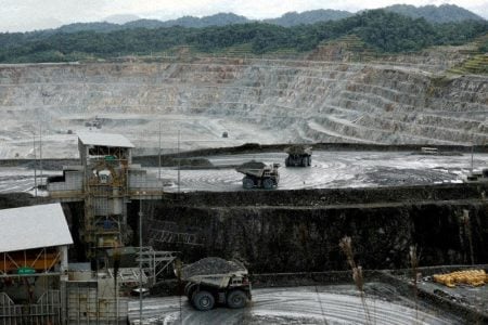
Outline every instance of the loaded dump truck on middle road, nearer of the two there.
[(242, 164), (235, 170), (245, 174), (242, 179), (242, 186), (244, 188), (260, 187), (272, 190), (278, 186), (280, 181), (279, 167), (280, 164), (266, 165), (261, 161), (251, 160)]

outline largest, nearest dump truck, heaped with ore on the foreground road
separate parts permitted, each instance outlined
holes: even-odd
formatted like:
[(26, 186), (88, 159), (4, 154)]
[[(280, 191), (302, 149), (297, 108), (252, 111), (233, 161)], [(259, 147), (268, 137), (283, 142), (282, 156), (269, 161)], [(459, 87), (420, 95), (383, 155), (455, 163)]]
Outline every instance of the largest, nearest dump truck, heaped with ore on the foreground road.
[(232, 309), (243, 308), (251, 300), (247, 269), (237, 261), (205, 258), (181, 269), (181, 280), (191, 304), (201, 311), (216, 304)]

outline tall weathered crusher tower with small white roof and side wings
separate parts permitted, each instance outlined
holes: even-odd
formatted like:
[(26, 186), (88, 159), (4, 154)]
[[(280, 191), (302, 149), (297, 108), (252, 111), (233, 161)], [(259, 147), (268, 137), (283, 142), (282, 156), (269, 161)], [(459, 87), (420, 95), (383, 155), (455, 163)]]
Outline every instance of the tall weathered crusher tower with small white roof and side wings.
[(89, 260), (132, 240), (127, 216), (131, 199), (160, 198), (163, 183), (132, 164), (134, 145), (120, 134), (79, 133), (80, 165), (63, 167), (62, 177), (48, 179), (48, 192), (60, 202), (84, 202), (79, 239)]

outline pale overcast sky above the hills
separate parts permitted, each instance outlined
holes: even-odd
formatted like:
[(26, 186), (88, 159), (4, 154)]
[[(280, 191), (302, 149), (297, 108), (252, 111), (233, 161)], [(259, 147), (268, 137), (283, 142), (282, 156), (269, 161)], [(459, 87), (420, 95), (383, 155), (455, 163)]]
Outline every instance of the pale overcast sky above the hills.
[(0, 31), (55, 28), (77, 22), (100, 22), (113, 15), (174, 20), (233, 12), (248, 18), (278, 17), (291, 11), (336, 9), (356, 12), (395, 3), (463, 6), (488, 18), (488, 0), (0, 0)]

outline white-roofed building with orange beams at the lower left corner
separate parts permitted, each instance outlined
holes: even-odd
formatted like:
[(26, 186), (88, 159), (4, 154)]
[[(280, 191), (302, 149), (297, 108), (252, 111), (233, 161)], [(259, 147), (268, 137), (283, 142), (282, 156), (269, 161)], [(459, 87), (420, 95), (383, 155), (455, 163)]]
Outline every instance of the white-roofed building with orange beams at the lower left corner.
[(63, 323), (61, 287), (72, 244), (61, 204), (0, 210), (0, 321)]

